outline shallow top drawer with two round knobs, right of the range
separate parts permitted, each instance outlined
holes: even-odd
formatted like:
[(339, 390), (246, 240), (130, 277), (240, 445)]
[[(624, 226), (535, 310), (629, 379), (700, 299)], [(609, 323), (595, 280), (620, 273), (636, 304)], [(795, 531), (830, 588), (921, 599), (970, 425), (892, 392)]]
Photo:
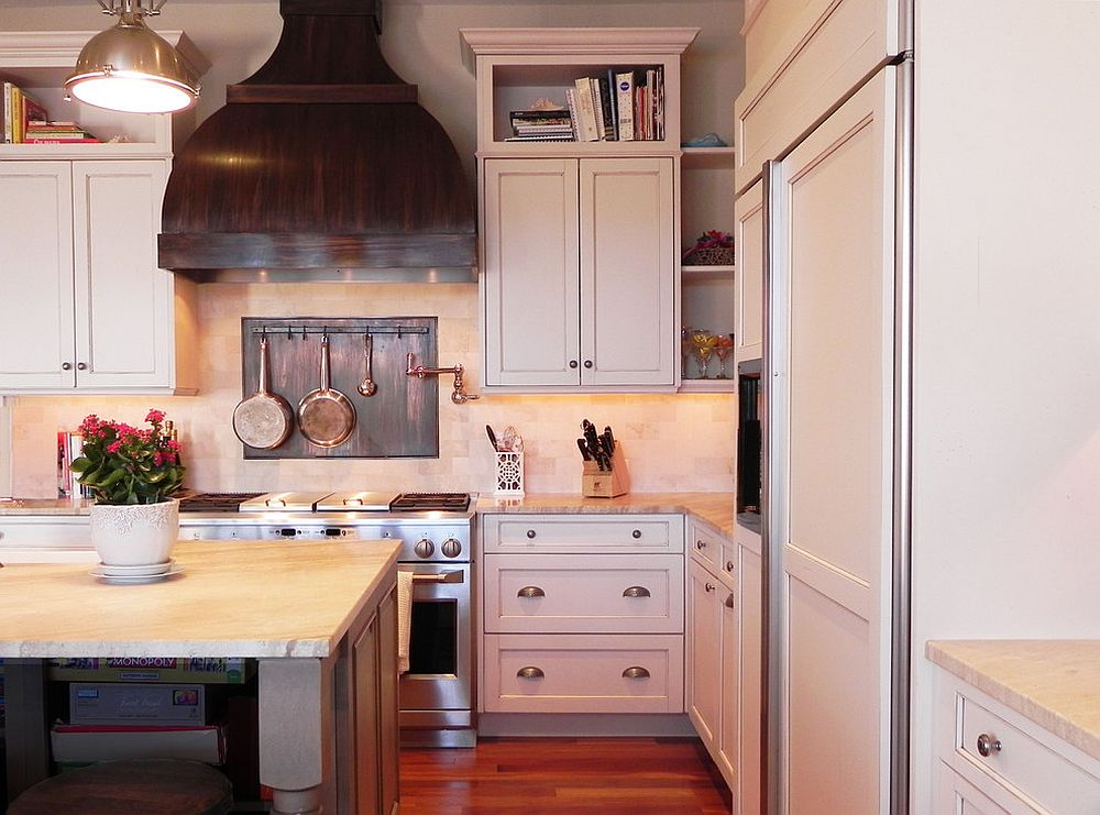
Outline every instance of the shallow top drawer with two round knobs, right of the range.
[(683, 552), (681, 515), (485, 515), (486, 552)]

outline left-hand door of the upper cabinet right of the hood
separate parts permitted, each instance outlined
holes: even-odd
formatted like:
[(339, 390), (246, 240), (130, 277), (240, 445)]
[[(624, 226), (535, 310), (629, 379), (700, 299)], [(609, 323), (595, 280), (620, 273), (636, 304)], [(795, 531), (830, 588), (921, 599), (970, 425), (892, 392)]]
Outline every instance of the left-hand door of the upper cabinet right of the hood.
[(576, 385), (576, 161), (485, 162), (486, 385)]

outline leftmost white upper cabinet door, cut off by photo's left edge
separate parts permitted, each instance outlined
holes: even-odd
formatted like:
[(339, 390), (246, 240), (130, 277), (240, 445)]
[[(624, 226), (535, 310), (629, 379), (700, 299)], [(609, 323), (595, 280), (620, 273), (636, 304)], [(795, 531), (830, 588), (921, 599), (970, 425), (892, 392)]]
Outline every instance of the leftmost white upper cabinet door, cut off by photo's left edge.
[(69, 163), (0, 163), (0, 387), (73, 387)]

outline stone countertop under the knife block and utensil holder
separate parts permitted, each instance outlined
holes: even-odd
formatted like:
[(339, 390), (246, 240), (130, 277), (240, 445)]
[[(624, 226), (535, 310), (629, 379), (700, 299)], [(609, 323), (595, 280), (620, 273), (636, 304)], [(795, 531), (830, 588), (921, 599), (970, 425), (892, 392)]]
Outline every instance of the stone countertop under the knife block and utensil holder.
[(618, 498), (585, 498), (570, 493), (528, 493), (517, 498), (498, 498), (487, 493), (477, 499), (477, 513), (684, 513), (704, 521), (718, 535), (732, 539), (735, 500), (733, 493), (628, 493)]

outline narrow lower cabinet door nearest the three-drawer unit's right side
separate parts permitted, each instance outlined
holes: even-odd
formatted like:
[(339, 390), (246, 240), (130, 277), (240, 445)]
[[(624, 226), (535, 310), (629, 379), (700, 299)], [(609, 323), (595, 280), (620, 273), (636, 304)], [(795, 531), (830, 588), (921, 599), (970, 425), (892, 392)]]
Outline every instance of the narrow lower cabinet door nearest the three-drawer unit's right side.
[(726, 590), (695, 561), (689, 566), (688, 714), (707, 749), (718, 744), (718, 705), (722, 682), (722, 599)]

